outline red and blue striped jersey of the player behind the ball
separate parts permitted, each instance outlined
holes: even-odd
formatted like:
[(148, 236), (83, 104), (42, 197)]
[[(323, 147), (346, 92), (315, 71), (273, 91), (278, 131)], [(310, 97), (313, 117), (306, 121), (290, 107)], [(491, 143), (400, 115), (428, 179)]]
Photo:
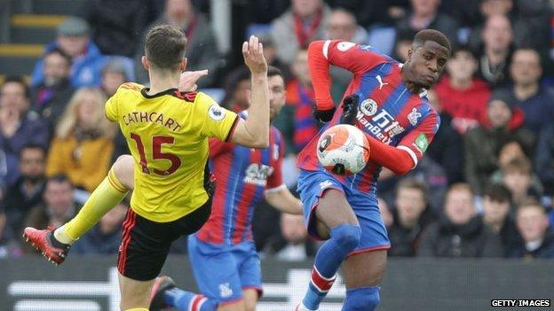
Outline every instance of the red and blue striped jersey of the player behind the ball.
[[(411, 159), (413, 163), (409, 165), (415, 167), (439, 129), (440, 120), (425, 92), (414, 94), (408, 90), (401, 77), (402, 64), (374, 51), (368, 45), (330, 40), (313, 43), (309, 58), (312, 62), (310, 69), (316, 102), (320, 109), (328, 109), (333, 105), (328, 94), (329, 64), (350, 70), (354, 77), (344, 96), (353, 93), (360, 96), (355, 125), (368, 136), (373, 153), (383, 144), (396, 147), (393, 149), (397, 153), (405, 155), (402, 152), (407, 152), (409, 156), (403, 159)], [(317, 158), (317, 142), (326, 128), (339, 123), (341, 113), (342, 105), (336, 109), (332, 121), (299, 153), (298, 167), (311, 171), (324, 169)], [(370, 153), (368, 164), (360, 173), (336, 177), (352, 190), (375, 194), (381, 166), (372, 159), (374, 155), (371, 150)]]

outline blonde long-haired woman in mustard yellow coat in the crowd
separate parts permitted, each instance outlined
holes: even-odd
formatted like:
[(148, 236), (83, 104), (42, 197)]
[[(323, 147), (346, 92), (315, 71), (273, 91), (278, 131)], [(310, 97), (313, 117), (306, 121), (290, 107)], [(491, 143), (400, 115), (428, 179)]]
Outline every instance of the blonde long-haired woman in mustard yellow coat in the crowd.
[(102, 182), (114, 152), (115, 134), (115, 126), (104, 113), (105, 103), (99, 89), (75, 92), (56, 128), (46, 175), (65, 174), (75, 187), (89, 192)]

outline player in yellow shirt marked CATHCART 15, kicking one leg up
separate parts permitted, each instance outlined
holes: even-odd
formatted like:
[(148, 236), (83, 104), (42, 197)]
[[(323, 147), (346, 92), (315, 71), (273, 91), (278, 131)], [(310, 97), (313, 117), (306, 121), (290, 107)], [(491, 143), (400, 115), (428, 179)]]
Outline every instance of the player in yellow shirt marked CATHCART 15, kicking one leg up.
[[(119, 123), (132, 155), (118, 161), (132, 160), (134, 174), (118, 174), (116, 163), (73, 220), (56, 230), (24, 230), (29, 243), (59, 264), (70, 245), (134, 189), (118, 259), (121, 308), (126, 311), (147, 310), (171, 242), (194, 233), (210, 217), (209, 138), (250, 148), (269, 144), (267, 64), (257, 38), (242, 45), (252, 77), (246, 121), (202, 92), (178, 89), (185, 51), (180, 29), (154, 27), (146, 35), (142, 59), (150, 88), (124, 83), (107, 101), (107, 118)], [(194, 84), (201, 75), (189, 79)]]

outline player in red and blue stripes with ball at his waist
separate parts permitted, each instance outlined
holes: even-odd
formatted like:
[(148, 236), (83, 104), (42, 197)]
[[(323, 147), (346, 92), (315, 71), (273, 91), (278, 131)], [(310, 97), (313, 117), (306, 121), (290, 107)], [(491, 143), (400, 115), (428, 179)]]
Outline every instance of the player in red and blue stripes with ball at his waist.
[[(425, 89), (439, 79), (451, 46), (439, 31), (425, 29), (415, 35), (405, 64), (368, 45), (341, 41), (314, 42), (308, 53), (316, 99), (313, 114), (328, 122), (321, 132), (351, 119), (368, 136), (370, 159), (357, 175), (329, 173), (317, 159), (319, 136), (298, 155), (298, 192), (308, 233), (327, 241), (316, 254), (311, 282), (297, 310), (318, 309), (342, 263), (347, 288), (343, 310), (371, 311), (379, 304), (378, 284), (390, 247), (377, 206), (377, 177), (381, 167), (397, 175), (408, 173), (431, 144), (439, 116)], [(353, 74), (338, 108), (329, 92), (329, 65)], [(344, 118), (347, 114), (352, 118)]]

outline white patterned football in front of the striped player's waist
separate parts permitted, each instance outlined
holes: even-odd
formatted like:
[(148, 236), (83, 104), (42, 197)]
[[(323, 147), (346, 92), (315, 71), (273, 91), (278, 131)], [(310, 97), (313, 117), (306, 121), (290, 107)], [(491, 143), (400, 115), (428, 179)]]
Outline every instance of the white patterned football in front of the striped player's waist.
[(368, 138), (360, 128), (339, 124), (321, 134), (317, 154), (321, 166), (328, 171), (336, 175), (356, 174), (368, 163)]

